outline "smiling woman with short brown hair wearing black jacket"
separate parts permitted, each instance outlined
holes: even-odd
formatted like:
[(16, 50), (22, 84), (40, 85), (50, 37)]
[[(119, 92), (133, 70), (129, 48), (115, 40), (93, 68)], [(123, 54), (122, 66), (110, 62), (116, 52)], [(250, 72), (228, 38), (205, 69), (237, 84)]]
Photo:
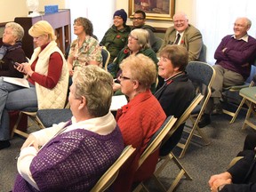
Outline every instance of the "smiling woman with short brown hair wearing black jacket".
[[(167, 45), (160, 52), (158, 75), (164, 78), (164, 85), (155, 92), (155, 97), (166, 116), (180, 118), (195, 97), (195, 88), (188, 79), (185, 68), (188, 65), (188, 51), (180, 45)], [(160, 155), (165, 156), (181, 138), (184, 124), (164, 143)]]

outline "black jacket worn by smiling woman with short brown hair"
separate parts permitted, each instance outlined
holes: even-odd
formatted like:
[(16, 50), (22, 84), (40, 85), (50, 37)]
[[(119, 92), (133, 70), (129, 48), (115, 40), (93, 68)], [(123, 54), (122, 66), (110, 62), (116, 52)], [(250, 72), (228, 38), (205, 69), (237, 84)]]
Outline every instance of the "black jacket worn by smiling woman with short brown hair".
[[(191, 81), (188, 80), (188, 75), (182, 74), (180, 76), (174, 76), (171, 81), (164, 83), (156, 91), (155, 96), (164, 109), (166, 116), (179, 118), (194, 99), (195, 88)], [(178, 130), (172, 134), (170, 140), (164, 143), (164, 146), (160, 149), (160, 156), (167, 155), (177, 145), (180, 141), (183, 128), (184, 124), (180, 125)]]

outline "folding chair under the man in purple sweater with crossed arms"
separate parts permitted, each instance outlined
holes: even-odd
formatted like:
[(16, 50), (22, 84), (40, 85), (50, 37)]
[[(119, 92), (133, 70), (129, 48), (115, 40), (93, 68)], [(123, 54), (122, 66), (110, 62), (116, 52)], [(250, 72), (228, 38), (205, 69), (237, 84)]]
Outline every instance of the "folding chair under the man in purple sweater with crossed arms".
[(223, 98), (225, 99), (226, 103), (228, 103), (228, 100), (231, 100), (232, 104), (239, 103), (235, 112), (228, 110), (228, 108), (222, 109), (224, 114), (227, 114), (228, 116), (232, 116), (232, 119), (230, 120), (229, 124), (233, 124), (235, 122), (236, 117), (238, 116), (240, 110), (244, 106), (245, 99), (243, 98), (241, 100), (241, 98), (238, 95), (238, 92), (240, 90), (242, 90), (243, 88), (254, 86), (254, 84), (255, 84), (254, 79), (256, 79), (256, 78), (254, 78), (255, 71), (256, 71), (256, 67), (253, 65), (251, 68), (251, 75), (247, 78), (247, 80), (244, 82), (244, 84), (234, 85), (234, 86), (230, 86), (228, 88), (224, 88), (224, 92), (222, 95), (223, 95)]

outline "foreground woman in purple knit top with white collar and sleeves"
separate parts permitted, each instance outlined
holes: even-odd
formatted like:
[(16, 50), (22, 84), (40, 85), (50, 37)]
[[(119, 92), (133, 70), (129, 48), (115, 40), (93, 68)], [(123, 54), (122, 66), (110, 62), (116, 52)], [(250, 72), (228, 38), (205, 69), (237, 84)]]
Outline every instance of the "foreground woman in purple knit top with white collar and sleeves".
[(124, 148), (109, 111), (112, 82), (112, 76), (96, 66), (75, 71), (68, 97), (71, 120), (28, 136), (13, 192), (91, 190)]

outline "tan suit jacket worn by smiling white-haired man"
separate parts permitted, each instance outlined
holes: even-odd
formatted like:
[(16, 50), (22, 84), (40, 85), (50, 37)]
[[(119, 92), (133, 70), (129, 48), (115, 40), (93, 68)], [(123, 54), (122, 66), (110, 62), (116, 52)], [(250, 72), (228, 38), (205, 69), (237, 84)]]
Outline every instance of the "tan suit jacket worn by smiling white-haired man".
[[(173, 26), (167, 28), (164, 35), (164, 42), (158, 52), (161, 52), (167, 44), (173, 44), (175, 38), (176, 29)], [(188, 61), (198, 60), (203, 47), (203, 37), (201, 32), (194, 26), (188, 25), (188, 28), (184, 31), (180, 45), (188, 50)]]

